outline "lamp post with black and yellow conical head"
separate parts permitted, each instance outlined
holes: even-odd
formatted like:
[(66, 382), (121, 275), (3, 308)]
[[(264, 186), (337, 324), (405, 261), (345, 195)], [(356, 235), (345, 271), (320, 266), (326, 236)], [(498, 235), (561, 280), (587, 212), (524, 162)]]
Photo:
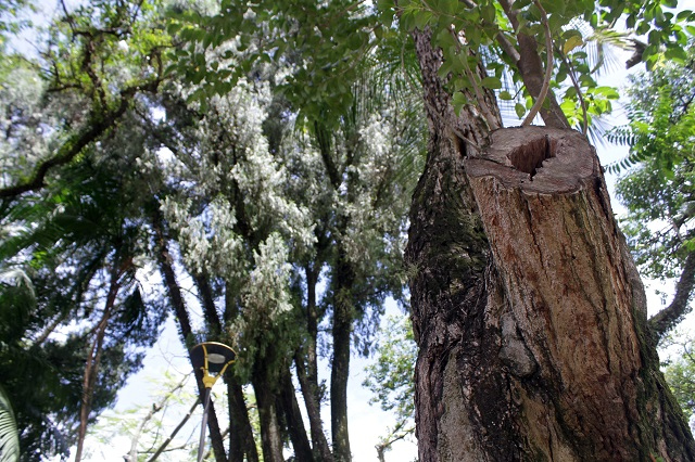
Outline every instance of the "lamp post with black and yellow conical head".
[[(203, 342), (191, 348), (191, 363), (195, 371), (203, 373), (203, 422), (200, 428), (200, 442), (198, 445), (198, 462), (203, 460), (205, 447), (205, 427), (207, 426), (207, 409), (210, 407), (210, 392), (217, 378), (225, 373), (227, 367), (235, 362), (237, 354), (225, 344), (217, 342)], [(215, 375), (211, 375), (211, 373)]]

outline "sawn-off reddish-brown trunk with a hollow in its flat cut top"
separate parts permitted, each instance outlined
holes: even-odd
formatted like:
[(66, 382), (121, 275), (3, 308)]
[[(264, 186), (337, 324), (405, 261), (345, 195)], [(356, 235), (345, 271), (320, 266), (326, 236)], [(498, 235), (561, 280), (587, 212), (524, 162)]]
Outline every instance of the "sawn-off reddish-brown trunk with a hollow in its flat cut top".
[(549, 460), (691, 460), (687, 445), (667, 445), (668, 425), (648, 428), (668, 410), (646, 393), (649, 371), (659, 373), (641, 334), (645, 298), (586, 139), (503, 129), (465, 166), (505, 298), (486, 322), (502, 331), (500, 355), (534, 451)]

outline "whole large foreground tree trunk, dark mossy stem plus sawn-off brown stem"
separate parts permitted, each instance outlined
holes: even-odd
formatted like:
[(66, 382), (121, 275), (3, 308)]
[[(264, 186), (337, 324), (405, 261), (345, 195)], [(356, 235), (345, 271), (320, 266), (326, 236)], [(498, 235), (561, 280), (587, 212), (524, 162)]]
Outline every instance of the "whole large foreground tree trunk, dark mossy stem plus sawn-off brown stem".
[(420, 461), (694, 460), (593, 147), (455, 117), (415, 40), (431, 130), (406, 251)]

